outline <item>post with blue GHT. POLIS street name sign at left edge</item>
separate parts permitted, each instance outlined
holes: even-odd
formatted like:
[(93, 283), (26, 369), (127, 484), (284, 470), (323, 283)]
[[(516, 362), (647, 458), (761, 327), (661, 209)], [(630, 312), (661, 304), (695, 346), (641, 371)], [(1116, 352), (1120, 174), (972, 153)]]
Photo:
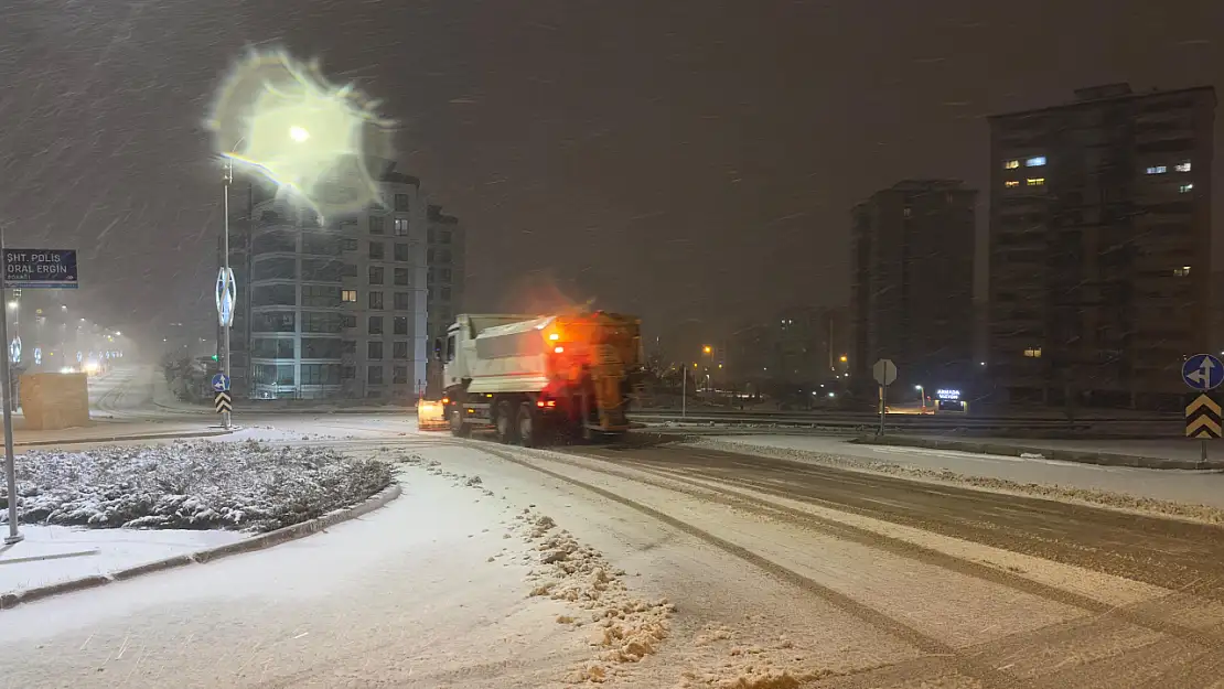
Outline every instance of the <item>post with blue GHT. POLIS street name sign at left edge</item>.
[[(9, 302), (10, 289), (51, 288), (76, 289), (76, 250), (58, 248), (6, 248), (0, 234), (0, 263), (4, 281), (0, 284), (0, 301)], [(0, 341), (9, 343), (9, 312), (0, 317)], [(10, 361), (21, 357), (21, 340), (13, 340), (9, 351), (0, 356), (0, 385), (4, 385), (4, 463), (5, 482), (9, 488), (9, 535), (5, 545), (20, 543), (24, 536), (17, 529), (17, 463), (12, 453), (12, 372)]]

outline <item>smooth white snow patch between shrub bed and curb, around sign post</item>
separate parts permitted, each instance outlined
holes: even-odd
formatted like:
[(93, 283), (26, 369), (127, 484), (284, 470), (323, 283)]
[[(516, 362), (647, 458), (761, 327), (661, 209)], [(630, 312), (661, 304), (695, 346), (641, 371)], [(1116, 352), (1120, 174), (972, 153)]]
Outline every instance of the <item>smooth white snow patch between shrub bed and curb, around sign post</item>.
[[(5, 535), (9, 526), (0, 526)], [(241, 541), (236, 531), (22, 526), (24, 540), (0, 546), (0, 595), (62, 584)]]

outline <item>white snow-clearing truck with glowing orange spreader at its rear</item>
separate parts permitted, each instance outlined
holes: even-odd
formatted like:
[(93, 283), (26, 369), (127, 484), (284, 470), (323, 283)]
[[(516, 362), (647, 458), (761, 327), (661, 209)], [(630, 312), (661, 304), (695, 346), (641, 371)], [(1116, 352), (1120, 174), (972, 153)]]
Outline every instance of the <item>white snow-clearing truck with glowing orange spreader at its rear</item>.
[(503, 443), (612, 441), (641, 370), (641, 326), (603, 311), (554, 316), (460, 315), (435, 343), (450, 432), (492, 430)]

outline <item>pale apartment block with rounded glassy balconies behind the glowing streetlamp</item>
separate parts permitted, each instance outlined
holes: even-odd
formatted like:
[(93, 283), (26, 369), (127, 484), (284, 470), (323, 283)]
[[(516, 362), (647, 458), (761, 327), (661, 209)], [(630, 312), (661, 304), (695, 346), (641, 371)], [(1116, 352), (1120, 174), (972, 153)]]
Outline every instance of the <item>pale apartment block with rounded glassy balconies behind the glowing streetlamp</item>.
[(321, 220), (289, 198), (256, 198), (231, 226), (239, 281), (236, 395), (415, 398), (426, 382), (426, 201), (388, 165), (381, 198)]

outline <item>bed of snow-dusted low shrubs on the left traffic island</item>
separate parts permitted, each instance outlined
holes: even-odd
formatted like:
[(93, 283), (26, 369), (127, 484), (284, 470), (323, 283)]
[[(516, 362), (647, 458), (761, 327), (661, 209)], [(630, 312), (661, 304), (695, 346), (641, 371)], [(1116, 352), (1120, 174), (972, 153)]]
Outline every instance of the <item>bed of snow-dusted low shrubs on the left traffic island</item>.
[(383, 461), (256, 441), (38, 450), (16, 464), (22, 521), (62, 526), (271, 531), (361, 502), (392, 481)]

